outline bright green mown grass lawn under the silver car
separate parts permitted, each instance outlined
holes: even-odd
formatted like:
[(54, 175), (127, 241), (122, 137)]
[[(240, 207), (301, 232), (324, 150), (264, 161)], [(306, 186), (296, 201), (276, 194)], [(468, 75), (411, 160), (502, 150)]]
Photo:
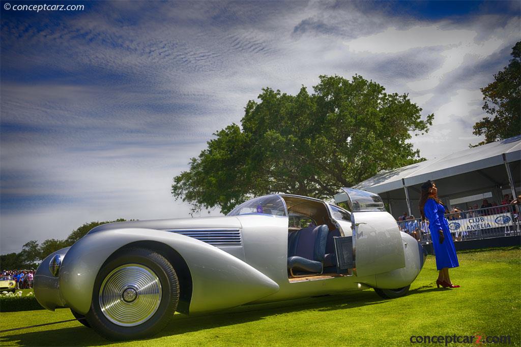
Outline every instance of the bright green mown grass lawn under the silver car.
[[(451, 277), (462, 288), (437, 289), (429, 256), (411, 291), (381, 299), (373, 290), (241, 306), (213, 315), (176, 314), (149, 340), (112, 343), (78, 322), (2, 332), (1, 345), (411, 345), (425, 335), (510, 335), (521, 345), (521, 249), (461, 251)], [(0, 314), (2, 330), (73, 319), (68, 309)], [(444, 344), (439, 344), (444, 345)], [(457, 345), (457, 344), (450, 344)], [(475, 345), (475, 344), (461, 344)]]

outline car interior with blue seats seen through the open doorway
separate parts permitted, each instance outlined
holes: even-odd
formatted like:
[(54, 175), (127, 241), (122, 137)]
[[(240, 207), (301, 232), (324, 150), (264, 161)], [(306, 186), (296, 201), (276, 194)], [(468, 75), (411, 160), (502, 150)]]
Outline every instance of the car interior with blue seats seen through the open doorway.
[(281, 196), (289, 214), (288, 277), (290, 282), (339, 277), (334, 237), (343, 236), (319, 200)]

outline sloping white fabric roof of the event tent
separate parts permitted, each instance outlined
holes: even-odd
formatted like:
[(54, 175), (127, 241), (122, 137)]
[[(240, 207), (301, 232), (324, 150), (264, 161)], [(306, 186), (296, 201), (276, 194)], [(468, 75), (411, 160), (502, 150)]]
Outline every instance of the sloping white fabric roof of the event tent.
[(521, 160), (521, 135), (490, 144), (467, 148), (439, 158), (381, 172), (353, 188), (380, 194), (403, 187), (423, 183), (427, 179), (440, 179), (454, 175), (490, 168), (507, 162)]

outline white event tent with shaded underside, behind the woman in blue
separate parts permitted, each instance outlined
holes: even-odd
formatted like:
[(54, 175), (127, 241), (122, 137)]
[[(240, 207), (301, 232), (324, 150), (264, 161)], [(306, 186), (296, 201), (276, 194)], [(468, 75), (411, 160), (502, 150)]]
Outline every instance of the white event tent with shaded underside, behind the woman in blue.
[(375, 192), (387, 200), (391, 211), (401, 207), (409, 214), (411, 207), (416, 211), (412, 200), (419, 199), (419, 186), (428, 179), (436, 181), (440, 197), (445, 197), (447, 204), (450, 198), (486, 190), (493, 190), (494, 199), (501, 201), (505, 189), (516, 196), (521, 181), (520, 161), (521, 135), (382, 172), (354, 188)]

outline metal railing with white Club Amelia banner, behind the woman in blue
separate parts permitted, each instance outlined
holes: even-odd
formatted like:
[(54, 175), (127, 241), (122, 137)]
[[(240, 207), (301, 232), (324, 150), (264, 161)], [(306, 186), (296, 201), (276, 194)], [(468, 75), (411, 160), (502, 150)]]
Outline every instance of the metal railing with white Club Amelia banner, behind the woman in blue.
[[(447, 213), (445, 218), (454, 241), (521, 235), (519, 210), (515, 205)], [(398, 226), (402, 232), (415, 236), (423, 245), (431, 242), (428, 221), (399, 221)]]

